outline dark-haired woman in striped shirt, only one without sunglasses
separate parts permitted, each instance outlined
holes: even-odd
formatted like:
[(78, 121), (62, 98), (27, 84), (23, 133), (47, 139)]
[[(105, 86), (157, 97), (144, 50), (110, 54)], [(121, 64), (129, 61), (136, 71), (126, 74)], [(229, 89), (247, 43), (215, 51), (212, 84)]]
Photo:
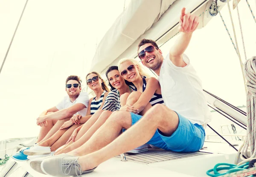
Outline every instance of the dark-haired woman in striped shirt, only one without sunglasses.
[[(99, 116), (93, 115), (93, 117), (91, 117), (83, 126), (76, 128), (64, 148), (55, 154), (73, 151), (87, 142), (93, 133), (95, 133), (101, 125), (105, 123), (111, 113), (120, 109), (120, 96), (125, 93), (131, 93), (135, 90), (134, 85), (131, 82), (125, 81), (125, 79), (120, 75), (117, 66), (109, 67), (106, 71), (106, 76), (111, 87), (111, 92), (108, 93), (102, 110), (98, 110), (95, 113)], [(138, 113), (138, 110), (133, 107), (128, 107), (127, 111)]]

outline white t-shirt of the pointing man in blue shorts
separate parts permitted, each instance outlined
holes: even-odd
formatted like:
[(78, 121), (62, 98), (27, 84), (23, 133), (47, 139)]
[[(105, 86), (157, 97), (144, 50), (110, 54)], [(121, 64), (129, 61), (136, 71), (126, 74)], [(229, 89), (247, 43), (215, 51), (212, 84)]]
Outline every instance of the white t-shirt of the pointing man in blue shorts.
[(189, 119), (192, 124), (206, 125), (211, 114), (204, 97), (201, 80), (183, 54), (186, 67), (177, 67), (167, 55), (160, 69), (159, 83), (166, 106)]

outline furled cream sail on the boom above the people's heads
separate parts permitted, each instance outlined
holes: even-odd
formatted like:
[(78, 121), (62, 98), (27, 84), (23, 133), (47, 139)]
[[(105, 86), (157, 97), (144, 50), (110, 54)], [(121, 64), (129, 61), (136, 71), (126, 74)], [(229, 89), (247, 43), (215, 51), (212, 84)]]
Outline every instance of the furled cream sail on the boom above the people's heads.
[(212, 18), (205, 13), (211, 3), (212, 0), (132, 0), (99, 43), (91, 70), (102, 73), (120, 58), (134, 58), (142, 38), (153, 39), (158, 44), (166, 42), (177, 33), (183, 7), (186, 12), (201, 15), (199, 28), (202, 28)]

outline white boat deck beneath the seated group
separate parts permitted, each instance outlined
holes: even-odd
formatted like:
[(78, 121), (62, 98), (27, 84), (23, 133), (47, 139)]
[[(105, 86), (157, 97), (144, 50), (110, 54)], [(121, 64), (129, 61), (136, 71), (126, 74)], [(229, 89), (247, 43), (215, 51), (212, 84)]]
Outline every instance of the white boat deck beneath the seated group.
[[(127, 162), (122, 162), (120, 157), (114, 157), (103, 162), (90, 174), (84, 174), (88, 177), (155, 177), (157, 175), (167, 175), (175, 177), (207, 177), (206, 171), (213, 168), (219, 162), (234, 163), (236, 151), (227, 143), (205, 142), (208, 148), (204, 152), (196, 153), (176, 153), (164, 151), (161, 149), (150, 149), (137, 155), (126, 155)], [(211, 153), (209, 153), (211, 152)], [(140, 159), (140, 160), (137, 160)], [(157, 160), (156, 160), (157, 159)], [(12, 165), (13, 159), (5, 165), (6, 168)], [(15, 171), (0, 177), (46, 177), (34, 171), (29, 161), (17, 161), (14, 167)], [(26, 171), (28, 173), (26, 173)]]

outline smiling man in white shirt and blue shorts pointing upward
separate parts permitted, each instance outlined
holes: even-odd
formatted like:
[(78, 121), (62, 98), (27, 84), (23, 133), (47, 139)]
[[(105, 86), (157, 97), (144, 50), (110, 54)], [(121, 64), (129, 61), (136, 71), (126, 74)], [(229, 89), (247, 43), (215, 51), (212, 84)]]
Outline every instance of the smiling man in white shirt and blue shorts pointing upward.
[[(144, 116), (125, 111), (113, 112), (80, 148), (42, 161), (43, 171), (64, 176), (61, 171), (64, 171), (65, 165), (69, 165), (69, 175), (91, 172), (111, 157), (145, 143), (168, 151), (200, 150), (204, 144), (204, 127), (210, 121), (210, 112), (201, 81), (189, 58), (183, 54), (197, 26), (198, 17), (185, 14), (183, 8), (179, 28), (182, 34), (165, 59), (155, 41), (143, 39), (138, 46), (142, 63), (159, 75), (166, 106), (156, 104)], [(132, 73), (128, 71), (128, 74)], [(119, 136), (123, 128), (128, 130)], [(68, 161), (73, 164), (62, 163)], [(78, 164), (81, 169), (76, 168)]]

